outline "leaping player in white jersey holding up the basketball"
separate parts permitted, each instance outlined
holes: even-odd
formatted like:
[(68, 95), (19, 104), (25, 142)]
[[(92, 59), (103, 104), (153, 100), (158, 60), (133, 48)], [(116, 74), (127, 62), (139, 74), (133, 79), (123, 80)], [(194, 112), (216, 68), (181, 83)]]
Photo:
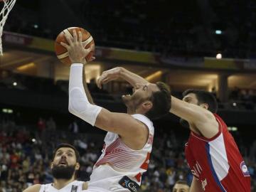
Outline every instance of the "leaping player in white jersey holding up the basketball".
[[(88, 189), (92, 191), (137, 191), (146, 171), (151, 154), (154, 127), (151, 119), (161, 117), (170, 110), (170, 91), (164, 82), (149, 83), (138, 75), (132, 78), (129, 71), (119, 70), (120, 77), (133, 87), (132, 95), (122, 97), (127, 106), (127, 113), (110, 112), (94, 104), (86, 83), (82, 83), (85, 57), (92, 48), (82, 46), (82, 34), (65, 34), (71, 62), (69, 81), (70, 113), (107, 131), (102, 155), (96, 162)], [(121, 72), (122, 69), (122, 72)], [(107, 74), (102, 74), (102, 81), (107, 81)], [(99, 84), (100, 85), (100, 84)]]

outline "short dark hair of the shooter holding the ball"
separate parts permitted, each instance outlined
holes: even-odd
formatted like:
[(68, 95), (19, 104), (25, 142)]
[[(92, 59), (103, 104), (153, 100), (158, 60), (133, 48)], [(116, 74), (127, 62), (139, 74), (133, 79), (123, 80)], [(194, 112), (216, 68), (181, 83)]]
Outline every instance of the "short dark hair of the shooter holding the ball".
[(156, 82), (159, 91), (153, 92), (150, 100), (153, 103), (151, 110), (146, 112), (146, 117), (149, 119), (159, 119), (169, 113), (171, 109), (171, 91), (168, 85), (164, 82)]

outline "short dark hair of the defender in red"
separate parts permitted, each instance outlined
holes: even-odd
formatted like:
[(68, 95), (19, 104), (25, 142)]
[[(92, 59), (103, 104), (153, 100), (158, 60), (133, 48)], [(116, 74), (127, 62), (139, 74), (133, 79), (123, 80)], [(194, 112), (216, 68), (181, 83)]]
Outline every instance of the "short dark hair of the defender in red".
[(208, 110), (210, 112), (216, 113), (218, 111), (218, 102), (211, 92), (207, 92), (205, 90), (189, 89), (184, 91), (182, 95), (183, 97), (185, 97), (189, 93), (194, 93), (196, 95), (196, 98), (198, 99), (199, 104), (207, 103)]

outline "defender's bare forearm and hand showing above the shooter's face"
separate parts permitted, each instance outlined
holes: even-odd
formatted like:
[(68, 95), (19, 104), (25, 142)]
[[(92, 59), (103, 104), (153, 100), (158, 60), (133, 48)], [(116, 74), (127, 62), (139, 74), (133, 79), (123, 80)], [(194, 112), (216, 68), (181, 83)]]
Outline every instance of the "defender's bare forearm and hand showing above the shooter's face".
[(112, 80), (116, 80), (117, 78), (122, 78), (123, 80), (126, 80), (127, 82), (129, 82), (130, 85), (132, 85), (132, 87), (135, 87), (137, 83), (148, 83), (148, 81), (142, 78), (141, 76), (132, 73), (131, 71), (125, 68), (118, 67), (104, 71), (100, 78), (97, 80), (97, 86), (102, 88), (103, 84), (106, 84), (107, 82), (110, 82)]

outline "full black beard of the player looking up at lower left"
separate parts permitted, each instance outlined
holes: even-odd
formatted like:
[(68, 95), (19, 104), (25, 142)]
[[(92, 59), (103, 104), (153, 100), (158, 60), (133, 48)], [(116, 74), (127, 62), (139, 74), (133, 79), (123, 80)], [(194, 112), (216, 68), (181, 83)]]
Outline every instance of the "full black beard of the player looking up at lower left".
[(75, 173), (75, 165), (73, 166), (56, 166), (52, 169), (53, 178), (70, 179)]

